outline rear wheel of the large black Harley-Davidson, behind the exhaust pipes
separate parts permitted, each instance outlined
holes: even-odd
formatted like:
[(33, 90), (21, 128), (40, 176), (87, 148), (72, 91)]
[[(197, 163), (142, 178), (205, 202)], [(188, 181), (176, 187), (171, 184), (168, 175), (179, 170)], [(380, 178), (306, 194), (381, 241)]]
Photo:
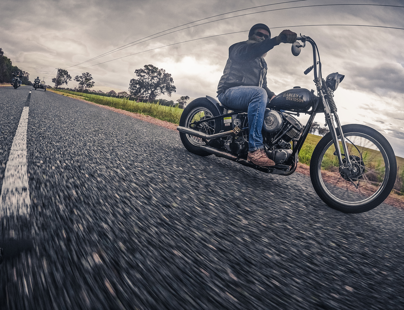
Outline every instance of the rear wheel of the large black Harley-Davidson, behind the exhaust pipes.
[[(183, 110), (179, 125), (181, 127), (201, 131), (207, 135), (213, 135), (214, 133), (218, 133), (220, 131), (220, 120), (216, 119), (206, 123), (201, 123), (196, 128), (192, 128), (191, 124), (195, 121), (200, 121), (201, 119), (208, 119), (215, 116), (219, 116), (219, 111), (212, 102), (210, 102), (207, 98), (196, 98)], [(201, 138), (181, 132), (179, 135), (181, 137), (182, 144), (189, 152), (198, 154), (200, 156), (211, 155), (210, 153), (200, 149), (200, 146), (206, 145)]]

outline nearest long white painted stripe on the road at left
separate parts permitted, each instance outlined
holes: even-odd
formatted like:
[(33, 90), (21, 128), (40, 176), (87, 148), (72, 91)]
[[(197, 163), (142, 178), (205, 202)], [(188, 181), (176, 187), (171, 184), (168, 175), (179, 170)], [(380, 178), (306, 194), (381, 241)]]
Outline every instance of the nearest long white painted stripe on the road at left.
[(24, 106), (8, 156), (0, 197), (0, 216), (29, 214), (31, 200), (27, 177), (28, 110), (29, 107)]

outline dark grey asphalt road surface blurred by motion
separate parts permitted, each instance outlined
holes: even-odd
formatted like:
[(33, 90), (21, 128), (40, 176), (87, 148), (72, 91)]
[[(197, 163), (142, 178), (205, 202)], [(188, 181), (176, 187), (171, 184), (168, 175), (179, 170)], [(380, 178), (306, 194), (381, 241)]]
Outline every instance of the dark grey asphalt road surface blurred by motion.
[[(0, 184), (29, 86), (0, 87)], [(2, 309), (403, 309), (404, 212), (188, 153), (176, 131), (32, 90), (28, 217)]]

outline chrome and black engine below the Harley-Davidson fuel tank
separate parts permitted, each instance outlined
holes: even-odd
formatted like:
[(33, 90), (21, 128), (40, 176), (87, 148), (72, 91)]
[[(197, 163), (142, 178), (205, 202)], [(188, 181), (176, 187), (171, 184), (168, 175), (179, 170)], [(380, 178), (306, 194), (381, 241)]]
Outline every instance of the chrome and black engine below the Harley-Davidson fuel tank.
[(266, 133), (265, 152), (276, 164), (282, 164), (292, 154), (290, 141), (299, 139), (303, 125), (292, 115), (265, 109), (263, 133)]

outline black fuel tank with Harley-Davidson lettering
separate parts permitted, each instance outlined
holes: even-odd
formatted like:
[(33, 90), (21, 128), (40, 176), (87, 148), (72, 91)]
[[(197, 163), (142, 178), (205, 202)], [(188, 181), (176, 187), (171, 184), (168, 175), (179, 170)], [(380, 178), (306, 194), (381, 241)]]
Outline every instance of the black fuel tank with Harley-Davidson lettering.
[(313, 93), (306, 88), (288, 89), (269, 102), (271, 109), (282, 109), (294, 112), (304, 112), (313, 104)]

